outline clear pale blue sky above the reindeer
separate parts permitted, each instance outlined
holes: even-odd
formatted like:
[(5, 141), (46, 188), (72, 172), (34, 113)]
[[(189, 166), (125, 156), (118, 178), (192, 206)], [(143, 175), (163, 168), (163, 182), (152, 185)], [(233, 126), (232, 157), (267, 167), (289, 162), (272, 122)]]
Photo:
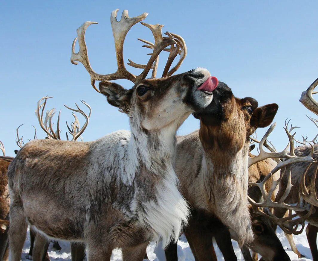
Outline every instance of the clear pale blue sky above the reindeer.
[[(76, 29), (85, 21), (96, 21), (86, 32), (93, 69), (100, 74), (116, 70), (114, 41), (109, 22), (112, 10), (127, 9), (129, 16), (143, 12), (145, 22), (163, 24), (163, 32), (181, 35), (188, 55), (179, 73), (205, 67), (232, 88), (237, 97), (252, 96), (259, 105), (276, 102), (280, 108), (272, 142), (282, 149), (287, 137), (286, 118), (301, 126), (301, 134), (315, 136), (317, 129), (306, 114), (314, 116), (298, 101), (301, 92), (318, 77), (317, 1), (3, 1), (0, 9), (0, 140), (8, 156), (14, 155), (16, 128), (24, 139), (44, 138), (34, 115), (37, 101), (54, 96), (47, 108), (62, 109), (61, 129), (71, 112), (63, 104), (85, 100), (92, 107), (86, 141), (112, 131), (129, 129), (128, 117), (93, 90), (85, 68), (70, 62)], [(137, 38), (152, 40), (150, 30), (140, 24), (128, 33), (124, 59), (147, 61), (149, 49)], [(161, 60), (163, 59), (163, 55)], [(162, 63), (159, 73), (162, 72)], [(133, 70), (135, 74), (138, 72)], [(126, 88), (129, 81), (119, 81)], [(317, 97), (318, 99), (318, 97)], [(80, 103), (80, 102), (79, 102)], [(84, 106), (81, 106), (84, 108)], [(84, 123), (82, 118), (81, 122)], [(190, 116), (178, 134), (199, 126)], [(264, 131), (258, 131), (258, 136)]]

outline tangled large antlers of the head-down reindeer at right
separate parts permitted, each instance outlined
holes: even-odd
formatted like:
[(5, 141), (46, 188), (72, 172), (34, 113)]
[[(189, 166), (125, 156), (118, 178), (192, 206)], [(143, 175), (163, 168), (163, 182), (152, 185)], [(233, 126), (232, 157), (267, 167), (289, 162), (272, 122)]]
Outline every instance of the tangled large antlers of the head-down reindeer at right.
[[(286, 185), (286, 189), (284, 191), (283, 196), (280, 198), (279, 201), (273, 201), (273, 193), (274, 191), (276, 191), (277, 187), (279, 186), (285, 170), (286, 170), (286, 166), (293, 164), (293, 163), (298, 163), (298, 162), (308, 162), (313, 163), (315, 162), (313, 155), (314, 155), (314, 147), (313, 145), (311, 145), (311, 152), (308, 156), (305, 157), (300, 157), (300, 156), (296, 156), (295, 152), (294, 152), (294, 134), (291, 134), (290, 132), (293, 131), (295, 128), (297, 128), (296, 126), (291, 126), (290, 128), (288, 128), (288, 123), (287, 120), (285, 121), (285, 127), (284, 130), (287, 134), (287, 137), (289, 139), (289, 143), (286, 146), (286, 148), (282, 151), (282, 152), (276, 152), (275, 148), (273, 147), (273, 145), (269, 145), (267, 143), (267, 138), (270, 135), (270, 133), (273, 131), (273, 129), (275, 128), (276, 124), (273, 123), (269, 130), (267, 130), (266, 134), (264, 135), (264, 137), (261, 139), (261, 141), (258, 141), (254, 138), (251, 138), (253, 141), (259, 143), (259, 155), (257, 155), (255, 158), (250, 158), (249, 159), (249, 166), (251, 166), (252, 164), (259, 162), (263, 159), (267, 159), (267, 158), (274, 158), (276, 159), (277, 162), (277, 166), (274, 167), (274, 169), (268, 173), (265, 177), (265, 179), (260, 182), (260, 183), (251, 183), (249, 182), (249, 185), (252, 186), (257, 186), (259, 187), (261, 193), (262, 193), (262, 198), (263, 198), (263, 202), (255, 202), (252, 198), (249, 197), (249, 201), (253, 206), (253, 209), (255, 212), (262, 214), (262, 215), (266, 215), (270, 220), (272, 220), (273, 222), (276, 222), (286, 233), (288, 234), (300, 234), (304, 228), (304, 222), (306, 220), (306, 218), (309, 217), (309, 215), (311, 215), (313, 207), (312, 205), (309, 206), (310, 204), (308, 204), (309, 201), (306, 200), (306, 197), (303, 196), (305, 195), (302, 192), (299, 192), (298, 194), (298, 202), (297, 203), (285, 203), (284, 201), (287, 199), (291, 188), (293, 187), (292, 183), (291, 183), (291, 173), (287, 173), (288, 177), (287, 177), (287, 185)], [(269, 142), (270, 143), (270, 142)], [(270, 143), (271, 144), (271, 143)], [(264, 148), (266, 147), (270, 152), (266, 152), (264, 151)], [(289, 151), (288, 151), (289, 148)], [(285, 160), (282, 160), (285, 159)], [(273, 179), (273, 174), (275, 174), (278, 170), (280, 171), (280, 178), (278, 180), (274, 180)], [(306, 173), (304, 173), (304, 175), (306, 175)], [(272, 180), (272, 185), (270, 187), (270, 189), (268, 190), (268, 192), (266, 191), (266, 182), (268, 180)], [(302, 195), (302, 198), (300, 197)], [(310, 197), (312, 199), (312, 194), (308, 194), (308, 197)], [(311, 202), (309, 202), (311, 203)], [(265, 208), (261, 209), (261, 208)], [(308, 213), (302, 217), (298, 217), (295, 218), (298, 214), (294, 214), (285, 218), (277, 218), (275, 215), (273, 215), (270, 211), (267, 211), (267, 208), (286, 208), (286, 209), (290, 209), (290, 210), (294, 210), (297, 212), (302, 212), (302, 211), (308, 211)], [(298, 229), (298, 226), (301, 225), (301, 229)]]

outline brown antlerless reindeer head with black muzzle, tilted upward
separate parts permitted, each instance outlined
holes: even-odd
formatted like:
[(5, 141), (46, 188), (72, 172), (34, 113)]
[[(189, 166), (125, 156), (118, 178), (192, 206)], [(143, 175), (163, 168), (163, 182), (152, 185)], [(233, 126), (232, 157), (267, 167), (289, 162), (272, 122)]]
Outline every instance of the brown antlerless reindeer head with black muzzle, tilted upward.
[(276, 103), (258, 108), (258, 102), (251, 97), (235, 98), (232, 90), (219, 82), (210, 105), (194, 116), (200, 119), (203, 145), (236, 153), (248, 145), (249, 136), (258, 127), (266, 127), (273, 121), (277, 109)]

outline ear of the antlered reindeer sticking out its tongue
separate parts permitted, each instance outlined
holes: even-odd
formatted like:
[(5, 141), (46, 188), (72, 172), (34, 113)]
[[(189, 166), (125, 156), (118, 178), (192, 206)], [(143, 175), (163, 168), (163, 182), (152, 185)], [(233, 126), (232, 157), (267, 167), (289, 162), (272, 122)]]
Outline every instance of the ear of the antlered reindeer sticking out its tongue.
[(100, 92), (107, 97), (109, 104), (118, 107), (120, 112), (129, 113), (130, 99), (132, 90), (127, 90), (121, 85), (110, 82), (101, 81), (99, 83)]

